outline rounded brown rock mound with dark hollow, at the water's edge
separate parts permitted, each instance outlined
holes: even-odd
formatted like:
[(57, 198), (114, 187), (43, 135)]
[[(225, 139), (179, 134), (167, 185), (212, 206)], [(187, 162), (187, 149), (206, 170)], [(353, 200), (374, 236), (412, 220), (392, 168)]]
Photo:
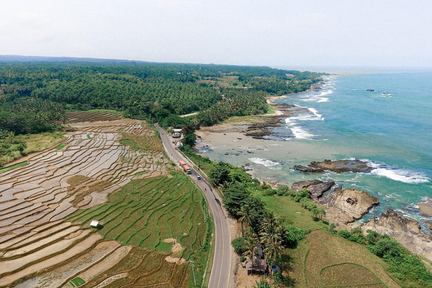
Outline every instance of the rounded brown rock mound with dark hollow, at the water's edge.
[(336, 225), (360, 219), (379, 202), (378, 197), (371, 196), (365, 191), (342, 189), (341, 186), (318, 200), (318, 204), (327, 207), (326, 218)]

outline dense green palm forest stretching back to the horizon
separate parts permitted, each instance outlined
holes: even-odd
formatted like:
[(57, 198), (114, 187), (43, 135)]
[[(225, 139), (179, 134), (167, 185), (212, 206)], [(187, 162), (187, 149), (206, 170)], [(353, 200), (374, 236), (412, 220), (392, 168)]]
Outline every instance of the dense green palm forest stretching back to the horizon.
[[(1, 60), (0, 130), (2, 135), (52, 131), (61, 127), (65, 111), (88, 109), (113, 109), (148, 121), (200, 112), (188, 124), (213, 125), (265, 113), (265, 97), (305, 91), (321, 75), (214, 64)], [(184, 125), (174, 116), (165, 122)]]

